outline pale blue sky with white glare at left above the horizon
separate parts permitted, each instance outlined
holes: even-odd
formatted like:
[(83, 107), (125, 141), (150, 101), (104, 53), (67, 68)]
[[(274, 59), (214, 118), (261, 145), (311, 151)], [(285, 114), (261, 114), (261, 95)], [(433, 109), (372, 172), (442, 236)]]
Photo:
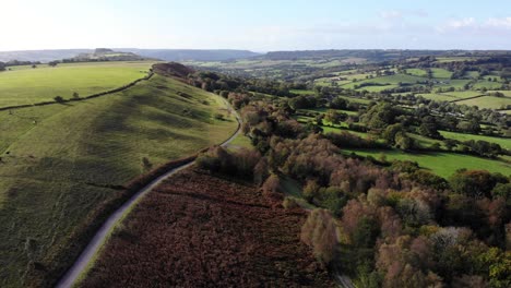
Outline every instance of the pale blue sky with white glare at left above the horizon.
[(511, 49), (510, 0), (0, 0), (0, 51)]

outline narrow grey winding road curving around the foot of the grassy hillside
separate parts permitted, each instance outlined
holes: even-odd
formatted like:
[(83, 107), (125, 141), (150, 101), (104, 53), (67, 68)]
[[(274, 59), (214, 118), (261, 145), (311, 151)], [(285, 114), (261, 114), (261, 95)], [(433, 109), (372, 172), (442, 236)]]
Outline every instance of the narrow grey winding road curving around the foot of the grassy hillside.
[[(219, 97), (219, 96), (218, 96)], [(227, 106), (228, 110), (230, 112), (235, 113), (236, 121), (238, 122), (238, 128), (236, 129), (236, 132), (226, 141), (224, 141), (221, 146), (226, 146), (228, 145), (233, 140), (235, 140), (239, 133), (241, 132), (241, 118), (238, 115), (236, 110), (230, 107), (230, 105), (227, 103), (227, 100), (223, 99), (225, 105)], [(64, 276), (59, 280), (59, 283), (56, 285), (57, 288), (69, 288), (73, 287), (73, 285), (76, 283), (76, 280), (80, 278), (80, 276), (87, 269), (88, 265), (92, 263), (94, 260), (95, 255), (102, 248), (102, 245), (105, 243), (107, 238), (110, 235), (110, 231), (114, 229), (114, 227), (122, 219), (124, 214), (132, 208), (134, 205), (136, 205), (136, 202), (141, 200), (145, 194), (151, 192), (154, 188), (156, 188), (158, 184), (161, 184), (163, 181), (171, 177), (173, 175), (192, 166), (194, 160), (190, 160), (187, 164), (183, 164), (177, 168), (174, 168), (166, 173), (159, 176), (158, 178), (154, 179), (151, 183), (148, 183), (146, 187), (141, 189), (139, 192), (136, 192), (131, 199), (126, 202), (122, 206), (120, 206), (114, 214), (111, 214), (108, 219), (103, 224), (103, 226), (99, 228), (99, 230), (96, 232), (94, 238), (88, 242), (87, 247), (85, 250), (82, 251), (80, 254), (79, 259), (74, 262), (73, 266), (64, 274)]]

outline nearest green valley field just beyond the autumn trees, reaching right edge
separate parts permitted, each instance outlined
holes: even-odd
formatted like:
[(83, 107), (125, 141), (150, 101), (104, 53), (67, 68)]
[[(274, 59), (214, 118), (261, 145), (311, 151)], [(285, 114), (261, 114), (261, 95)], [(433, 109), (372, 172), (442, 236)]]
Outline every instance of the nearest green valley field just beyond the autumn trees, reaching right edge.
[(429, 169), (436, 175), (449, 178), (457, 169), (488, 170), (490, 172), (501, 172), (506, 176), (511, 175), (511, 164), (479, 158), (455, 153), (405, 153), (403, 151), (378, 151), (378, 149), (344, 149), (346, 153), (355, 153), (360, 156), (372, 156), (379, 158), (381, 155), (387, 160), (411, 160), (417, 161), (423, 168)]

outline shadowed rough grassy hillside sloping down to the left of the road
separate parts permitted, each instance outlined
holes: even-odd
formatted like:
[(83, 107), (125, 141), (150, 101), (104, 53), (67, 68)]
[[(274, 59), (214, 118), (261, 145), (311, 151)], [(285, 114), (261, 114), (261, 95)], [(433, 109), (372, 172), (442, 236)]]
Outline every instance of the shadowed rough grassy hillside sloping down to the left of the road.
[(236, 125), (218, 96), (163, 76), (96, 99), (0, 111), (0, 286), (40, 286), (71, 264), (80, 227), (119, 197), (112, 185), (219, 143)]

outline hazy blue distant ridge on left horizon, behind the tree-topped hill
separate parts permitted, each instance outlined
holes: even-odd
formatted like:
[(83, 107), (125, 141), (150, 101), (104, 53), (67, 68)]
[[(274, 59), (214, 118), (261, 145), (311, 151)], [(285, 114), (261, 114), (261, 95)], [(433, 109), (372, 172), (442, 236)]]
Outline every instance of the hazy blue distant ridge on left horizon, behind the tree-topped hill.
[[(248, 50), (194, 50), (194, 49), (136, 49), (136, 48), (114, 48), (116, 51), (131, 52), (145, 58), (161, 59), (165, 61), (225, 61), (241, 58), (260, 56)], [(0, 61), (40, 61), (49, 62), (74, 58), (79, 55), (94, 53), (94, 49), (56, 49), (56, 50), (21, 50), (0, 51)]]

